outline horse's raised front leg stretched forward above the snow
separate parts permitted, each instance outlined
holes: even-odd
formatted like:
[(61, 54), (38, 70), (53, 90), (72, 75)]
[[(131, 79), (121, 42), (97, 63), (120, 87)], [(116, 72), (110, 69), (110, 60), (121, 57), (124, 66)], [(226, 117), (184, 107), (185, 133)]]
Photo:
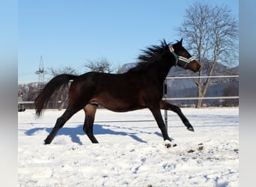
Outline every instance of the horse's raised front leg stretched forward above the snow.
[(179, 107), (177, 107), (176, 105), (171, 105), (170, 103), (165, 102), (163, 100), (161, 100), (159, 104), (161, 109), (171, 110), (171, 111), (174, 111), (176, 114), (178, 114), (178, 116), (186, 126), (186, 129), (188, 129), (189, 131), (194, 131), (193, 126), (189, 123), (189, 120), (186, 119), (186, 117), (184, 116), (184, 114), (182, 113)]

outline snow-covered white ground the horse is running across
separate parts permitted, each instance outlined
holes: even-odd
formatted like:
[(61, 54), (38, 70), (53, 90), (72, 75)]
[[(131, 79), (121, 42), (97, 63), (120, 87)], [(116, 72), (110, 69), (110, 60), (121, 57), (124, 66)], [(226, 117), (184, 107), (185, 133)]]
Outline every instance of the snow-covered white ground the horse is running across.
[(39, 119), (34, 110), (19, 112), (18, 184), (239, 186), (239, 108), (182, 111), (195, 132), (186, 130), (177, 114), (168, 111), (168, 134), (177, 144), (169, 149), (147, 109), (126, 113), (98, 109), (94, 134), (100, 144), (91, 144), (82, 131), (83, 111), (49, 145), (43, 140), (64, 111), (48, 110)]

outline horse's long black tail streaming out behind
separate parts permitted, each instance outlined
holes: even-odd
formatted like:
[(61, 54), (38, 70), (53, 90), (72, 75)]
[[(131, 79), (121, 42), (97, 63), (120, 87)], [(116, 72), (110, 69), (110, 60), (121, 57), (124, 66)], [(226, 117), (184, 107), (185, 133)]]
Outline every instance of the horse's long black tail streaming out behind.
[(47, 102), (49, 101), (52, 93), (57, 91), (61, 86), (67, 85), (70, 80), (75, 79), (77, 76), (69, 75), (69, 74), (61, 74), (55, 76), (52, 80), (50, 80), (46, 86), (40, 91), (37, 98), (34, 100), (34, 106), (36, 110), (37, 117), (40, 117), (42, 114), (43, 108), (46, 107)]

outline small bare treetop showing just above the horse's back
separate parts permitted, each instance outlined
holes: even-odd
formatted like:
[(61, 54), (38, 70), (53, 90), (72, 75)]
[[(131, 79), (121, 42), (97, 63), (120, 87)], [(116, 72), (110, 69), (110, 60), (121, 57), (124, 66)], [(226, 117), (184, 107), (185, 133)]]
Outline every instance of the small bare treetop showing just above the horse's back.
[(101, 72), (101, 73), (112, 73), (112, 65), (106, 58), (102, 58), (97, 61), (88, 61), (88, 64), (85, 64), (85, 67), (90, 71)]

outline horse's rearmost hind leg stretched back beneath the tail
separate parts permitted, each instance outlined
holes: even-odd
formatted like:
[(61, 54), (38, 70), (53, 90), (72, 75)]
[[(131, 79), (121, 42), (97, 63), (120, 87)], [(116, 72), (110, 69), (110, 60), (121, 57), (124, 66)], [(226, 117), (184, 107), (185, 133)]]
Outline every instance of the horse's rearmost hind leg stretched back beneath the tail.
[(73, 114), (75, 114), (77, 111), (79, 110), (74, 110), (70, 106), (67, 107), (67, 110), (64, 112), (64, 114), (62, 114), (61, 117), (58, 117), (55, 126), (52, 129), (52, 132), (50, 132), (47, 138), (44, 140), (44, 144), (50, 144), (55, 135), (57, 134), (58, 130), (61, 129), (61, 127), (64, 126), (67, 120), (69, 120), (70, 117), (72, 117)]

